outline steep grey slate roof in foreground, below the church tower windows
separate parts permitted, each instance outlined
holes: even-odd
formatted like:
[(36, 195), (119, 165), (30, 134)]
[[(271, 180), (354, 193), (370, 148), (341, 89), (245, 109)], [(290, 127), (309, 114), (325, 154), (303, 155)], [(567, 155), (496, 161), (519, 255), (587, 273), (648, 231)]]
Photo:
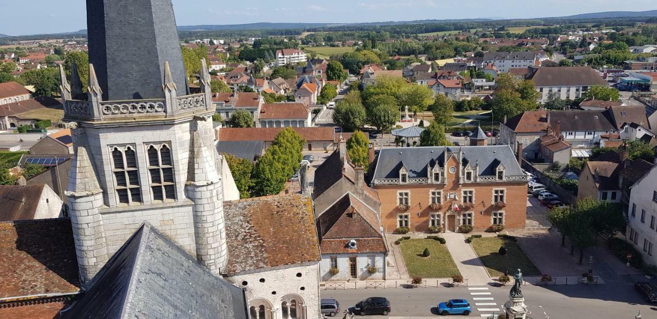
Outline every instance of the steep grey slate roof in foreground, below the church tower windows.
[(62, 319), (246, 319), (241, 288), (141, 225), (93, 278)]

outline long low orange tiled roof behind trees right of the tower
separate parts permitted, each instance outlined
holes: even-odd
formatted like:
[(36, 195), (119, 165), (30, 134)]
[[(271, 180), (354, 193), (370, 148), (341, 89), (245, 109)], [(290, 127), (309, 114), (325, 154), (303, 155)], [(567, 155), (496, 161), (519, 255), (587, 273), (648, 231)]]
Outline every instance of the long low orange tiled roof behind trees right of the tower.
[[(219, 144), (227, 141), (263, 141), (266, 150), (282, 129), (283, 127), (222, 127), (217, 132), (217, 140)], [(306, 140), (307, 150), (332, 151), (340, 140), (340, 133), (335, 133), (334, 127), (292, 127), (292, 129)], [(349, 138), (351, 133), (342, 133), (342, 136)]]

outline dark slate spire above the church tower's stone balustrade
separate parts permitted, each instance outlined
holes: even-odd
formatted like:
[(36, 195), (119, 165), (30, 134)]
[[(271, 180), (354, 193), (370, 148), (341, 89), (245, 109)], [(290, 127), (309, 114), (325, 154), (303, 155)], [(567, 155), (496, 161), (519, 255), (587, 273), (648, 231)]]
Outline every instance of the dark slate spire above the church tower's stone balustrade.
[(189, 94), (171, 0), (87, 0), (87, 29), (102, 100), (165, 98), (166, 61)]

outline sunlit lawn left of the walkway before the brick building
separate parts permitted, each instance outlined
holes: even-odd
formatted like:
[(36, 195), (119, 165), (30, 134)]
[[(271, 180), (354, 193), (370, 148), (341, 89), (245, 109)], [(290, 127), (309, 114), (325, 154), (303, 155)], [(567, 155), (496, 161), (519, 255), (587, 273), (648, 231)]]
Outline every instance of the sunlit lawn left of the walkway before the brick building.
[[(429, 249), (429, 257), (420, 256), (424, 248)], [(440, 244), (438, 240), (402, 240), (399, 244), (399, 250), (401, 250), (401, 255), (411, 277), (451, 278), (451, 276), (461, 274), (454, 263), (454, 259), (449, 255), (447, 247)]]

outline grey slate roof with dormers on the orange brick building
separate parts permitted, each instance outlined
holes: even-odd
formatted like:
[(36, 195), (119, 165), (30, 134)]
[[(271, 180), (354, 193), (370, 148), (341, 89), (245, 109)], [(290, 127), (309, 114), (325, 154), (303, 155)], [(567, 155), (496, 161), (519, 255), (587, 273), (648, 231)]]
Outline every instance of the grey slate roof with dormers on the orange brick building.
[(427, 165), (443, 165), (445, 150), (455, 152), (463, 150), (463, 165), (479, 164), (480, 176), (493, 176), (497, 165), (502, 163), (505, 175), (523, 175), (518, 161), (507, 145), (489, 146), (427, 146), (413, 148), (384, 148), (376, 160), (373, 179), (395, 179), (399, 177), (401, 165), (409, 171), (409, 178), (428, 177)]

